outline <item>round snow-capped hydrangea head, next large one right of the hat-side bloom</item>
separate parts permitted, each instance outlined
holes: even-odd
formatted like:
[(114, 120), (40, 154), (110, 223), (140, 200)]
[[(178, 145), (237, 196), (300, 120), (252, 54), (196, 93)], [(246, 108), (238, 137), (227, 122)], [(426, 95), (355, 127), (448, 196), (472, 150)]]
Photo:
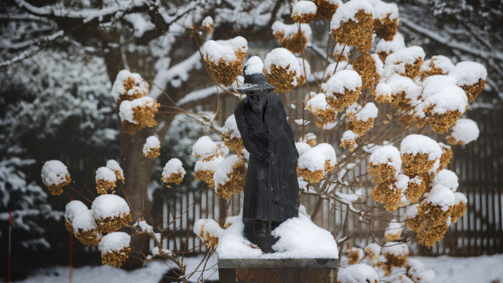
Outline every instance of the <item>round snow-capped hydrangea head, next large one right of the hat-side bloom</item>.
[(321, 85), (328, 105), (336, 111), (342, 111), (355, 103), (362, 89), (362, 78), (354, 70), (343, 69)]

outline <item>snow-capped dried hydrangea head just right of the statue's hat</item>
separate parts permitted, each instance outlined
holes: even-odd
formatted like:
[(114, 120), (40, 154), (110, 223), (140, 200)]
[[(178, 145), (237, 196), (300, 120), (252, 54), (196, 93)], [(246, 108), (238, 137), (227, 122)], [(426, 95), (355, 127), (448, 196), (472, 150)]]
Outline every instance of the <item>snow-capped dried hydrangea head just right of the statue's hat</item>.
[(277, 92), (289, 92), (298, 85), (301, 69), (297, 58), (285, 48), (275, 48), (264, 60), (264, 75)]

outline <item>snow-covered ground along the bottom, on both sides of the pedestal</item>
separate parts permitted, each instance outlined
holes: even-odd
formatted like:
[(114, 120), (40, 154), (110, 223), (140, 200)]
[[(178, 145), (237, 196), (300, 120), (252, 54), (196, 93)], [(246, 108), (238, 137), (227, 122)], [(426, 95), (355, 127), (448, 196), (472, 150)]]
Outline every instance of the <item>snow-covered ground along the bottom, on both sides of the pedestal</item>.
[[(414, 257), (420, 259), (426, 268), (433, 269), (437, 277), (435, 283), (491, 283), (503, 282), (503, 254), (480, 257)], [(185, 264), (194, 269), (199, 261), (197, 258), (187, 258)], [(207, 265), (210, 270), (204, 272), (204, 279), (215, 280), (218, 277), (213, 258)], [(167, 267), (161, 262), (151, 262), (145, 268), (135, 271), (124, 271), (108, 265), (80, 267), (73, 269), (73, 283), (157, 283)], [(56, 275), (58, 274), (58, 275)], [(210, 276), (211, 274), (211, 276)], [(196, 282), (200, 273), (191, 277)], [(209, 277), (209, 278), (208, 278)], [(51, 269), (38, 270), (28, 279), (20, 283), (57, 283), (68, 282), (68, 267), (60, 266)]]

